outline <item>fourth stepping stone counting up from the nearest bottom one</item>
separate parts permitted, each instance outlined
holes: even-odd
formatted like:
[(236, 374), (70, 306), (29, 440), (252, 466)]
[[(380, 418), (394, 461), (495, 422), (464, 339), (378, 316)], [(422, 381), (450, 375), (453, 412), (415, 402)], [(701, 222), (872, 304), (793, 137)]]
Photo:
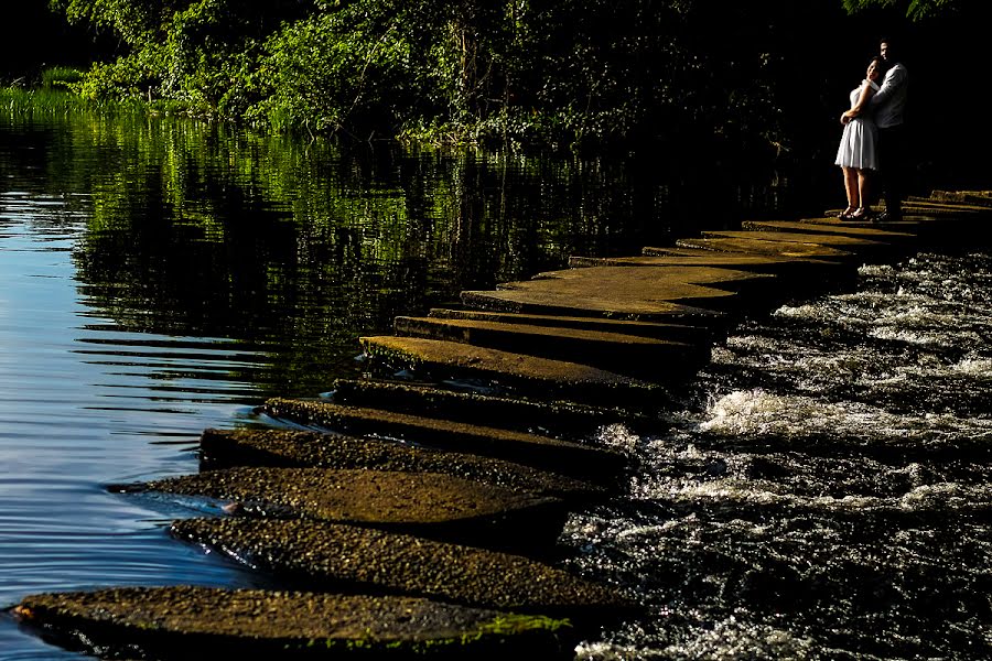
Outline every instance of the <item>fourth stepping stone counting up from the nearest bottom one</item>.
[(200, 437), (200, 460), (202, 470), (239, 466), (367, 468), (443, 473), (515, 491), (570, 500), (593, 500), (605, 494), (602, 487), (590, 483), (502, 459), (319, 432), (208, 429)]

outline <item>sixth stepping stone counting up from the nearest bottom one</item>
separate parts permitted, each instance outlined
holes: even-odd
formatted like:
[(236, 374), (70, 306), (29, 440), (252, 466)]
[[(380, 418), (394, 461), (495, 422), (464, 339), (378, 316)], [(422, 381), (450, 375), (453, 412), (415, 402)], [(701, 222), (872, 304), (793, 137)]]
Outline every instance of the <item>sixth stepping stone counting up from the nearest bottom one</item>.
[(612, 424), (653, 432), (657, 432), (659, 425), (656, 419), (615, 407), (590, 407), (570, 401), (538, 402), (401, 381), (338, 379), (330, 401), (351, 408), (443, 418), (563, 440), (589, 440)]

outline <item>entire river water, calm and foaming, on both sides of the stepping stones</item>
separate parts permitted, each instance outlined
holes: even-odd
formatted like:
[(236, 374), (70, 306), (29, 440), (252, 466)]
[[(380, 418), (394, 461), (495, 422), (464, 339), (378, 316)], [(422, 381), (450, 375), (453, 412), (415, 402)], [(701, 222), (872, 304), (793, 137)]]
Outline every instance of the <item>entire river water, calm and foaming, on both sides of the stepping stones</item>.
[[(712, 183), (712, 180), (710, 180)], [(783, 188), (603, 161), (351, 150), (169, 119), (0, 111), (0, 607), (263, 585), (171, 540), (206, 427), (355, 377), (356, 338), (463, 289), (630, 254)], [(864, 264), (756, 315), (575, 512), (563, 566), (637, 593), (576, 659), (986, 659), (992, 257)], [(0, 661), (80, 658), (0, 617)]]

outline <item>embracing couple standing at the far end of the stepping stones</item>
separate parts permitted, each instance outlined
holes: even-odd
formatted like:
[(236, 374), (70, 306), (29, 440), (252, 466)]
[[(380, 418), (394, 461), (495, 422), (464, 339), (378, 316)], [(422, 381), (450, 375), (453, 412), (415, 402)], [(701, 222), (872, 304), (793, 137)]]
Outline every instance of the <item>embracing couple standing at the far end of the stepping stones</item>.
[[(909, 76), (892, 40), (883, 39), (861, 85), (851, 91), (851, 109), (841, 115), (844, 132), (834, 164), (844, 175), (848, 208), (842, 220), (902, 220), (905, 166), (903, 113)], [(875, 216), (871, 202), (875, 175), (884, 188), (885, 212)]]

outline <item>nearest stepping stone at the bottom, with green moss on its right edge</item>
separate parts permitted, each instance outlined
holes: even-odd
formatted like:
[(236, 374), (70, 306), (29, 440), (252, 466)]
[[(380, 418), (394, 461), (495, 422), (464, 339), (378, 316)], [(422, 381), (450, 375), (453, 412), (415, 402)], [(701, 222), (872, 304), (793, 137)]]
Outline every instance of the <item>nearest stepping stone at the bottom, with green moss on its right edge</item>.
[(578, 643), (564, 620), (416, 597), (116, 587), (30, 595), (12, 613), (103, 659), (572, 659)]

